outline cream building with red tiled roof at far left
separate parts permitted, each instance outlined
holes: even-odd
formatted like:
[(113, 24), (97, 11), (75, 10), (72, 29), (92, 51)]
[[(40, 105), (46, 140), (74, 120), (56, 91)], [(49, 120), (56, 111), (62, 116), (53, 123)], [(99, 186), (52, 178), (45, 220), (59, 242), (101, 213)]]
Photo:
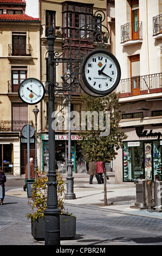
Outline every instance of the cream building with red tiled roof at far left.
[[(24, 0), (0, 1), (0, 166), (14, 175), (23, 174), (27, 163), (22, 127), (35, 127), (34, 106), (20, 100), (18, 87), (25, 78), (40, 79), (41, 22), (26, 15), (25, 7)], [(34, 143), (31, 156), (35, 157)]]

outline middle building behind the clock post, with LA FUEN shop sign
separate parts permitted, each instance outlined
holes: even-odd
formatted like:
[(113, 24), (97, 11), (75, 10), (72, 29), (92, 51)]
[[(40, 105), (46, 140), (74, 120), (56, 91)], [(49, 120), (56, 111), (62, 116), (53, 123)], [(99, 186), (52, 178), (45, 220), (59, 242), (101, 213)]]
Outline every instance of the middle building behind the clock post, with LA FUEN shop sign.
[[(92, 51), (95, 45), (88, 42), (87, 38), (84, 36), (83, 26), (88, 25), (92, 22), (93, 15), (96, 10), (102, 10), (107, 15), (107, 5), (106, 1), (96, 0), (96, 1), (40, 1), (41, 10), (41, 81), (44, 86), (47, 86), (48, 82), (48, 29), (49, 26), (54, 27), (54, 35), (56, 37), (54, 42), (54, 51), (58, 53), (58, 56), (67, 58), (70, 51), (74, 51), (74, 54), (79, 47), (79, 40), (74, 38), (72, 42), (72, 49), (66, 50), (66, 45), (63, 44), (62, 39), (67, 38), (67, 44), (69, 43), (69, 38), (72, 38), (76, 31), (82, 27), (79, 32), (82, 36), (82, 41), (80, 44), (80, 50), (82, 51)], [(105, 20), (104, 25), (107, 27), (107, 21)], [(109, 42), (107, 42), (106, 47), (108, 49)], [(62, 55), (61, 55), (62, 54)], [(67, 62), (61, 63), (55, 66), (54, 82), (62, 84), (62, 75), (67, 74), (68, 65)], [(76, 70), (78, 72), (78, 70)], [(85, 102), (81, 99), (81, 88), (76, 87), (71, 96), (71, 111), (77, 111), (81, 113), (81, 110), (85, 109)], [(58, 96), (56, 93), (56, 102)], [(67, 116), (68, 106), (63, 106), (55, 102), (55, 109), (57, 118), (59, 116)], [(81, 146), (78, 145), (77, 133), (79, 130), (72, 131), (72, 163), (74, 172), (85, 171), (85, 156), (83, 156), (81, 151)], [(64, 128), (63, 130), (55, 131), (56, 138), (56, 160), (61, 170), (66, 168), (68, 159), (68, 130)], [(44, 97), (42, 101), (42, 170), (48, 171), (48, 94)]]

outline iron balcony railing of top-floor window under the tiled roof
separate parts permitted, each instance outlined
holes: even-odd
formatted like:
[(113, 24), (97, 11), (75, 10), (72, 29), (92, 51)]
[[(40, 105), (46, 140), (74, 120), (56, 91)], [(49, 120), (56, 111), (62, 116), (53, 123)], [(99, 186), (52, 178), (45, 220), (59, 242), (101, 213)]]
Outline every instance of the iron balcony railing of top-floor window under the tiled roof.
[(9, 56), (32, 56), (33, 49), (27, 44), (9, 45)]

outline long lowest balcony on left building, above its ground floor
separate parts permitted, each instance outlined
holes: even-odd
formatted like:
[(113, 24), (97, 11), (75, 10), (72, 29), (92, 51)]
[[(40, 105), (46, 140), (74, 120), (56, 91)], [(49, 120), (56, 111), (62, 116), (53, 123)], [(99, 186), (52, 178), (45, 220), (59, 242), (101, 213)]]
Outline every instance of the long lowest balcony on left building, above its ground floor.
[(16, 132), (16, 131), (21, 132), (22, 127), (27, 124), (33, 126), (33, 121), (3, 120), (3, 121), (0, 121), (0, 132)]

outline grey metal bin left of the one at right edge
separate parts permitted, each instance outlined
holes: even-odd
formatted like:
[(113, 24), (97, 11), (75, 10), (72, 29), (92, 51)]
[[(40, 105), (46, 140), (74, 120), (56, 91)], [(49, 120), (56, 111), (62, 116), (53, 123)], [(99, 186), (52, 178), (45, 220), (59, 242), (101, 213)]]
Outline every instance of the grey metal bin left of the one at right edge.
[(147, 180), (134, 180), (136, 185), (136, 203), (137, 208), (147, 208)]

